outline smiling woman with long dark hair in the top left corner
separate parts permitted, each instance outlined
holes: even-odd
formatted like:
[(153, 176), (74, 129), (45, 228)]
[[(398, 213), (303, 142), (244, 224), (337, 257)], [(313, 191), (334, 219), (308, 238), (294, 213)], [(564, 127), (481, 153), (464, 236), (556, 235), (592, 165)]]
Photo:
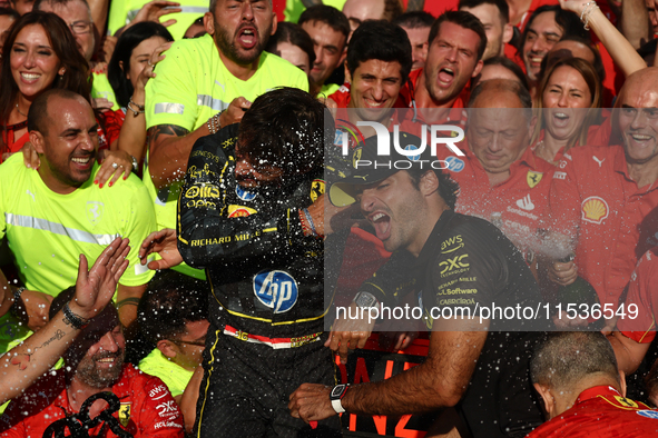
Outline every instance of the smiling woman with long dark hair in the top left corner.
[(27, 113), (37, 97), (62, 88), (89, 100), (90, 84), (87, 61), (69, 28), (53, 13), (30, 12), (17, 20), (2, 52), (8, 57), (0, 72), (0, 150), (6, 156), (28, 140)]

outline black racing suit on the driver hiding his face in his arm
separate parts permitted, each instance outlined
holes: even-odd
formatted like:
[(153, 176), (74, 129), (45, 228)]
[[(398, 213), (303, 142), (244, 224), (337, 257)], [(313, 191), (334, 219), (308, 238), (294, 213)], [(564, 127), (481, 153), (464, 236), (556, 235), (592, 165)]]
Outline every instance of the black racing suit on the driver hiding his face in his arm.
[(310, 430), (287, 409), (301, 384), (336, 384), (323, 346), (323, 241), (304, 237), (299, 220), (324, 192), (323, 169), (243, 189), (237, 127), (197, 140), (178, 200), (178, 249), (213, 291), (195, 435), (340, 434), (337, 417)]

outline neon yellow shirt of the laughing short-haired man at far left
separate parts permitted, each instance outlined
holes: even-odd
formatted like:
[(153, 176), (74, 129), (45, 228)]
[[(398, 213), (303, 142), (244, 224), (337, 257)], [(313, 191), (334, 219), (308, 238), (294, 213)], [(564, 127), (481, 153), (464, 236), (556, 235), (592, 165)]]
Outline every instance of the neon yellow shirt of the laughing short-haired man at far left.
[[(0, 239), (7, 236), (19, 276), (26, 287), (51, 296), (73, 286), (80, 253), (89, 267), (117, 236), (130, 239), (129, 266), (124, 286), (147, 283), (154, 276), (139, 263), (144, 239), (156, 229), (153, 202), (134, 175), (112, 187), (99, 189), (91, 177), (69, 195), (50, 190), (39, 173), (26, 168), (21, 153), (0, 166)], [(0, 318), (0, 351), (17, 334), (18, 321)], [(23, 328), (18, 329), (24, 334)]]

